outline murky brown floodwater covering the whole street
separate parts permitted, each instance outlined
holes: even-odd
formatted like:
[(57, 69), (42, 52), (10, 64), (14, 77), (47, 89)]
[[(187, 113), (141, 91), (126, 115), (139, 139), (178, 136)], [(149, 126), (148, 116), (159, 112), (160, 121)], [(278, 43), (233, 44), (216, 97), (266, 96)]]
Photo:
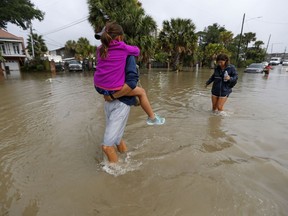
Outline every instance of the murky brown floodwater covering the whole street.
[(163, 126), (131, 109), (129, 151), (109, 166), (93, 73), (0, 81), (0, 215), (287, 215), (288, 72), (239, 71), (211, 112), (211, 70), (141, 71)]

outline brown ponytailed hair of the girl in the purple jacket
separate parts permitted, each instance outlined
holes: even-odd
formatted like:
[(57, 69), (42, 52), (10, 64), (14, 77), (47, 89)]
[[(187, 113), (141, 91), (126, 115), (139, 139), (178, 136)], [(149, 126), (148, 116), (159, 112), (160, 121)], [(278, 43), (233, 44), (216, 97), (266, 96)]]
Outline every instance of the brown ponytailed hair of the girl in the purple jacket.
[(101, 58), (106, 58), (108, 56), (108, 47), (112, 40), (115, 40), (117, 36), (123, 36), (124, 31), (122, 27), (116, 22), (107, 23), (105, 30), (101, 35), (102, 46), (100, 48)]

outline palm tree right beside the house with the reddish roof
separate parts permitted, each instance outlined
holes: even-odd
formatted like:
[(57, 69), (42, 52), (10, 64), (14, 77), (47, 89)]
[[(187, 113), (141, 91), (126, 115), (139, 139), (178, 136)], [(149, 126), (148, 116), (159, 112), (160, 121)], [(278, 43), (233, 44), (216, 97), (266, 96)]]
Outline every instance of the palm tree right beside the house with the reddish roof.
[[(41, 35), (38, 34), (32, 34), (33, 37), (33, 48), (34, 48), (34, 55), (35, 58), (40, 58), (42, 57), (47, 51), (48, 48), (45, 44), (44, 39), (42, 38)], [(27, 40), (27, 49), (29, 54), (32, 56), (33, 52), (32, 52), (32, 38), (31, 35), (28, 36), (28, 40)]]

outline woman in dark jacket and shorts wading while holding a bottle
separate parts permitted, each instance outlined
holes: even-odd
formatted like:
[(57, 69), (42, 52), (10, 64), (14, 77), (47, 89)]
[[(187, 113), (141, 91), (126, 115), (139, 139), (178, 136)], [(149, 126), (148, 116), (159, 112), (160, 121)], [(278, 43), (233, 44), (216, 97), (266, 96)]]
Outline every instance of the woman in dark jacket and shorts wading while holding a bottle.
[(206, 87), (213, 82), (211, 90), (212, 111), (221, 112), (238, 80), (238, 74), (235, 67), (229, 63), (229, 57), (226, 54), (219, 54), (216, 63), (217, 66), (207, 80)]

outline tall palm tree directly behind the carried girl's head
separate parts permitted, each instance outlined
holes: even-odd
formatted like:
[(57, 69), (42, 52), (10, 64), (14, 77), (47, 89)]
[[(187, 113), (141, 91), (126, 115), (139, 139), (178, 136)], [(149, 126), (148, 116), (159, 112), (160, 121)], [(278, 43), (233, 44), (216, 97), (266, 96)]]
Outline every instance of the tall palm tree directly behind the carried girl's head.
[(145, 15), (138, 0), (88, 0), (89, 22), (100, 32), (105, 23), (116, 21), (125, 33), (128, 44), (137, 45), (141, 49), (139, 60), (148, 63), (155, 50), (156, 22)]

